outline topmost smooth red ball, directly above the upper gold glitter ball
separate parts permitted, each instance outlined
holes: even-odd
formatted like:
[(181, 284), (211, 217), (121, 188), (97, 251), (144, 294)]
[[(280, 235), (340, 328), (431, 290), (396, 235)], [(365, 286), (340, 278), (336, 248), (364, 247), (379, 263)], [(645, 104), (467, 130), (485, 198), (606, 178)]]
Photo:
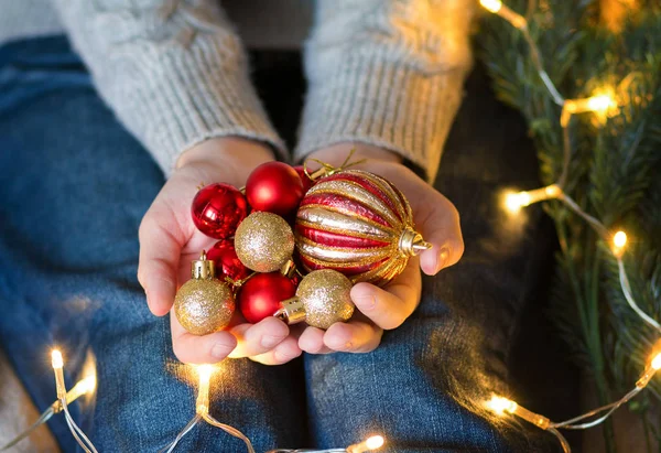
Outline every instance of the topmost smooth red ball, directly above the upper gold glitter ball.
[(303, 182), (296, 171), (282, 162), (267, 162), (250, 173), (246, 197), (254, 211), (285, 216), (299, 207)]

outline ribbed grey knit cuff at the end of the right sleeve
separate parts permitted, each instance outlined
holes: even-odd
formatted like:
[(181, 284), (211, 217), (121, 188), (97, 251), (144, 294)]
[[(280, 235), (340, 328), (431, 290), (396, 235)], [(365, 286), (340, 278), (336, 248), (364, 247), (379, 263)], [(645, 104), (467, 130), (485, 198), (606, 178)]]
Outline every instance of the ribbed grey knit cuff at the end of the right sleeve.
[(349, 55), (310, 87), (295, 158), (338, 142), (365, 142), (398, 152), (433, 180), (465, 72), (424, 74)]

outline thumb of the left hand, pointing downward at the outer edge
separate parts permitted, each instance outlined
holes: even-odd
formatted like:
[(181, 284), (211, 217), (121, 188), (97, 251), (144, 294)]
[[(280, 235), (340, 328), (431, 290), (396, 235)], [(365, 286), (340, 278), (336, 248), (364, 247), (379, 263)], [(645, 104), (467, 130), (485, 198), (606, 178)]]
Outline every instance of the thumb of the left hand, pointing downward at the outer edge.
[[(138, 281), (147, 293), (149, 309), (156, 316), (166, 314), (174, 302), (178, 261), (186, 238), (167, 213), (152, 206), (140, 224)], [(156, 220), (159, 219), (159, 220)]]

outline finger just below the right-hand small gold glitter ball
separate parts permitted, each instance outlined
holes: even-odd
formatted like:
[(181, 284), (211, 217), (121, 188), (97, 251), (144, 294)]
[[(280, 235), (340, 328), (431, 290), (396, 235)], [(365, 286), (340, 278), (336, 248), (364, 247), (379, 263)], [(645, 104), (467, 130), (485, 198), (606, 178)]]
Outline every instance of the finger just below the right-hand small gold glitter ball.
[(324, 344), (343, 353), (369, 353), (381, 343), (383, 330), (372, 323), (335, 323), (324, 334)]

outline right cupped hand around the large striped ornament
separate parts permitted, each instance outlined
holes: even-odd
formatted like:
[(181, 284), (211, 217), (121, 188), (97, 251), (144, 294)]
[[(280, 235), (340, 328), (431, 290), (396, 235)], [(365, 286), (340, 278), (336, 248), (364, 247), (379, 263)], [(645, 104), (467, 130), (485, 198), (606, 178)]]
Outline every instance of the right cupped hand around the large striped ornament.
[(311, 155), (323, 162), (339, 165), (347, 153), (356, 148), (355, 159), (369, 161), (357, 166), (371, 171), (392, 182), (404, 193), (413, 209), (415, 229), (433, 248), (411, 258), (400, 277), (380, 289), (358, 283), (351, 299), (358, 311), (348, 323), (336, 323), (326, 332), (307, 327), (299, 338), (299, 346), (307, 353), (325, 354), (335, 350), (368, 353), (381, 342), (383, 330), (395, 328), (413, 313), (420, 302), (420, 270), (433, 276), (456, 263), (464, 252), (459, 215), (454, 205), (431, 185), (403, 166), (401, 159), (376, 147), (343, 143)]

